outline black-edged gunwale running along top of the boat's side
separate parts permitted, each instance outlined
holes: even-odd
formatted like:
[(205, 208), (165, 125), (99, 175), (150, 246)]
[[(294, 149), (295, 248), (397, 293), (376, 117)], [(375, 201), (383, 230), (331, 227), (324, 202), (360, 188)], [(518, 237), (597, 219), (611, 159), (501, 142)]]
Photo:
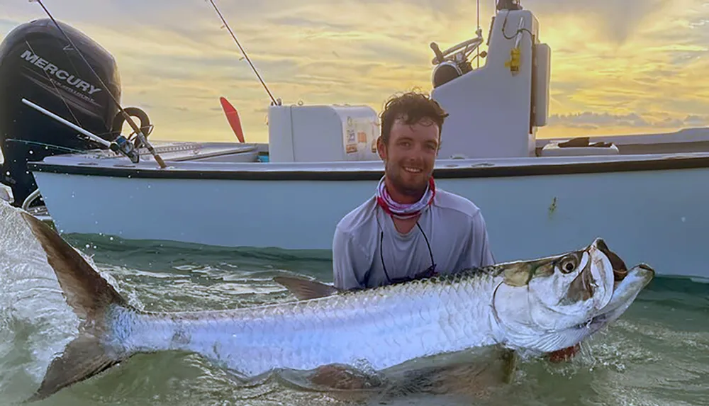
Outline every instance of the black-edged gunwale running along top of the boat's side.
[[(138, 179), (214, 179), (248, 181), (370, 181), (384, 175), (382, 162), (231, 163), (155, 162), (109, 164), (49, 157), (55, 162), (28, 162), (33, 172)], [(46, 159), (46, 158), (45, 158)], [(63, 162), (62, 162), (63, 161)], [(301, 167), (301, 168), (298, 168)], [(529, 157), (498, 159), (440, 159), (437, 179), (603, 174), (630, 171), (666, 171), (709, 168), (709, 153), (647, 154), (605, 157)]]

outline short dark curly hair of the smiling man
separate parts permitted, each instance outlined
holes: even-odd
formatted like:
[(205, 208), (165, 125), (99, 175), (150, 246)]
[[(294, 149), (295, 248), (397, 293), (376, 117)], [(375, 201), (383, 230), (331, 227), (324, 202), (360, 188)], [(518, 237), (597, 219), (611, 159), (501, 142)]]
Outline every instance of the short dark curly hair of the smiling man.
[(409, 91), (401, 96), (393, 96), (384, 104), (384, 111), (381, 112), (381, 139), (385, 145), (389, 145), (389, 134), (391, 126), (397, 119), (404, 120), (404, 123), (413, 125), (423, 120), (438, 125), (438, 140), (440, 140), (443, 122), (448, 116), (437, 101), (426, 94)]

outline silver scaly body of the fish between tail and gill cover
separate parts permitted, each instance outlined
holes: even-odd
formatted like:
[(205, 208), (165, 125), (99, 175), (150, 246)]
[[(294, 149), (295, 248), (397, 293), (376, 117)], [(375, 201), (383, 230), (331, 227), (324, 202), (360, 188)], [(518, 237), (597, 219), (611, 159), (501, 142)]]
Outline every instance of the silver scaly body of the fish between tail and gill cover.
[[(194, 351), (247, 376), (366, 360), (384, 369), (412, 358), (493, 344), (486, 274), (366, 293), (194, 314), (135, 313), (109, 323), (119, 351)], [(366, 305), (365, 305), (366, 303)], [(129, 311), (129, 310), (124, 310)], [(128, 322), (129, 325), (121, 325)], [(174, 340), (176, 334), (184, 336)], [(218, 346), (223, 351), (214, 352)], [(227, 354), (238, 354), (228, 356)]]

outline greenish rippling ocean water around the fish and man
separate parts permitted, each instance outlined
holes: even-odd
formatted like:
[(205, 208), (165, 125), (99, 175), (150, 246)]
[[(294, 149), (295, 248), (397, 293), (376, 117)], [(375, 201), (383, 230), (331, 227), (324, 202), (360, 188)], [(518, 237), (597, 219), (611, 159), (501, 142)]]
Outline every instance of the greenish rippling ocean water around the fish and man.
[[(78, 325), (41, 248), (0, 212), (0, 405), (28, 397)], [(287, 273), (332, 281), (328, 252), (67, 237), (131, 304), (219, 310), (294, 298)], [(105, 239), (104, 239), (105, 241)], [(677, 259), (681, 262), (681, 258)], [(709, 405), (709, 284), (656, 278), (565, 363), (522, 359), (509, 383), (462, 372), (450, 386), (386, 397), (324, 393), (276, 377), (244, 384), (194, 354), (141, 354), (37, 405)], [(477, 379), (477, 380), (476, 380)], [(452, 389), (451, 389), (452, 388)]]

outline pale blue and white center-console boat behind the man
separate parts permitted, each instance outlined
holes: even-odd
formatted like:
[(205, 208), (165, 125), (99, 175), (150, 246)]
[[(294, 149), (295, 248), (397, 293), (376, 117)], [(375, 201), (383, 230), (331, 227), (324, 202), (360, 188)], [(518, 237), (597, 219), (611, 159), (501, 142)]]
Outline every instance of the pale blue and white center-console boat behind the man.
[[(434, 60), (431, 95), (450, 113), (438, 187), (479, 205), (498, 261), (601, 236), (660, 275), (709, 279), (707, 132), (537, 140), (549, 114), (551, 51), (532, 12), (514, 1), (498, 8), (481, 67), (455, 60), (476, 52), (480, 30), (442, 52), (452, 60)], [(38, 55), (20, 51), (37, 65)], [(54, 108), (25, 95), (24, 114), (51, 120), (37, 106)], [(138, 162), (105, 148), (48, 155), (28, 163), (38, 185), (29, 197), (41, 193), (65, 234), (330, 249), (337, 222), (373, 195), (383, 174), (378, 133), (366, 106), (277, 102), (268, 144), (154, 142), (166, 167), (145, 148)]]

